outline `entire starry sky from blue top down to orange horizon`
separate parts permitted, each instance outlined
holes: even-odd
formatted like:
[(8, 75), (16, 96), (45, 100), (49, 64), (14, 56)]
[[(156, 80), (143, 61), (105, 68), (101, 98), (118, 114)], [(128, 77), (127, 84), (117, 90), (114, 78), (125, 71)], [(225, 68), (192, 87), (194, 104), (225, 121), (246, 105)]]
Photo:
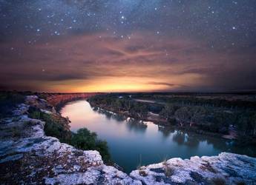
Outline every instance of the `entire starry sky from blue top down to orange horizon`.
[(256, 89), (255, 0), (0, 0), (0, 89)]

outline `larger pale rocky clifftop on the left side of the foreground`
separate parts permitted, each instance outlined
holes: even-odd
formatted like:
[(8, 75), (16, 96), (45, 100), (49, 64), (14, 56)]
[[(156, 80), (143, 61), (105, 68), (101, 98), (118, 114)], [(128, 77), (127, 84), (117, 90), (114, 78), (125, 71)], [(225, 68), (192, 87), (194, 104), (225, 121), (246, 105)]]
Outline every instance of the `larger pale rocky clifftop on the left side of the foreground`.
[[(34, 104), (36, 99), (28, 96), (26, 102)], [(1, 120), (1, 184), (141, 184), (103, 164), (99, 152), (75, 149), (46, 136), (45, 123), (27, 117), (28, 107), (21, 104), (15, 116)]]

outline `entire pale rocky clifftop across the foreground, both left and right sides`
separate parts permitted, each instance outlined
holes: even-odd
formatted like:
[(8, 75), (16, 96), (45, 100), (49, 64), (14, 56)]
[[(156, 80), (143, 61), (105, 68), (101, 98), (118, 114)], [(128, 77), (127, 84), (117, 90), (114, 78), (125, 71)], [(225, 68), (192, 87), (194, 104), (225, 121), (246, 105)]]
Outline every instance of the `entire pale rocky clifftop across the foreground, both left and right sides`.
[(1, 184), (256, 184), (256, 159), (232, 153), (171, 158), (129, 176), (106, 166), (97, 151), (82, 151), (46, 136), (45, 123), (28, 118), (29, 107), (57, 114), (45, 100), (27, 96), (13, 117), (1, 120)]

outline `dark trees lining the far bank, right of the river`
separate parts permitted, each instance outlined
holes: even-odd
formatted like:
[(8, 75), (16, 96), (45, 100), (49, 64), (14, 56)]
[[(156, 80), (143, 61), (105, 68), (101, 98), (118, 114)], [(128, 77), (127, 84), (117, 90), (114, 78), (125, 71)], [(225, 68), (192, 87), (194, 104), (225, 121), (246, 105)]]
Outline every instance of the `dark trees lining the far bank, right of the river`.
[[(232, 127), (240, 135), (256, 137), (255, 101), (228, 101), (217, 98), (164, 97), (146, 95), (147, 99), (165, 104), (134, 101), (141, 95), (108, 94), (89, 98), (91, 106), (122, 113), (132, 118), (145, 119), (148, 112), (156, 112), (167, 125), (197, 127), (208, 132), (227, 134)], [(145, 97), (144, 97), (145, 98)], [(210, 106), (212, 105), (212, 106)]]

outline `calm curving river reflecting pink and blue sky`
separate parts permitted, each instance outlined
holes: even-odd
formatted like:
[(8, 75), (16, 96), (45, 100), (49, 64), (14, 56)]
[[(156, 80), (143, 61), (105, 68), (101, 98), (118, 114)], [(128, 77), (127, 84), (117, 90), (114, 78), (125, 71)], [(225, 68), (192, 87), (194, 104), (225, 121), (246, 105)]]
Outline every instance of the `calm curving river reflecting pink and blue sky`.
[(251, 152), (249, 148), (234, 147), (232, 141), (220, 138), (163, 129), (156, 124), (147, 126), (125, 121), (117, 115), (93, 110), (88, 101), (73, 101), (61, 110), (68, 116), (71, 130), (86, 127), (108, 142), (111, 158), (131, 172), (140, 164), (159, 163), (168, 158), (190, 158), (198, 155), (218, 155), (220, 152)]

